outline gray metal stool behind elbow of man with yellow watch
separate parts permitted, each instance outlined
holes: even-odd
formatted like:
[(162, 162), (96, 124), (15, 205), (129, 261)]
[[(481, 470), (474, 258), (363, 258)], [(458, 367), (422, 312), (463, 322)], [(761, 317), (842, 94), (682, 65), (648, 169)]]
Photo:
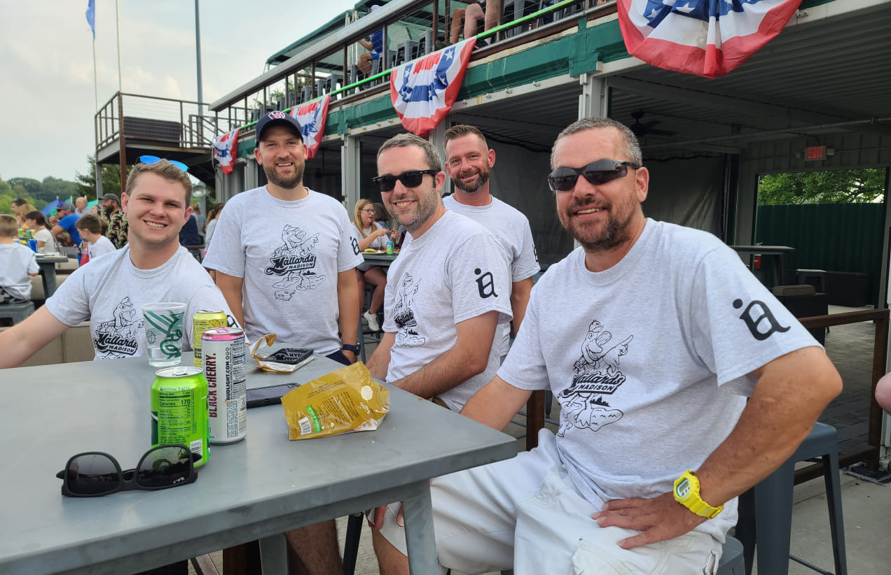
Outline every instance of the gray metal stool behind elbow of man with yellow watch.
[[(822, 423), (813, 425), (811, 433), (808, 433), (792, 457), (758, 483), (754, 493), (753, 490), (748, 490), (740, 496), (740, 522), (736, 526), (736, 537), (740, 539), (744, 548), (746, 575), (752, 572), (756, 546), (759, 575), (788, 573), (789, 559), (813, 571), (829, 573), (803, 559), (789, 555), (795, 464), (797, 461), (816, 458), (821, 459), (823, 464), (835, 575), (847, 575), (845, 525), (842, 521), (841, 482), (838, 477), (838, 440), (835, 427)], [(755, 511), (754, 516), (752, 509)]]

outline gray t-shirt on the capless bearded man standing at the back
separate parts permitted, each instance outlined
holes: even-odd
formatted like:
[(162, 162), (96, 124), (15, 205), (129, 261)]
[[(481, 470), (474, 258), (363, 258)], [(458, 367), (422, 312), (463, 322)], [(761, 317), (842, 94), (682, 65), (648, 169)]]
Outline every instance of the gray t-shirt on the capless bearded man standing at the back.
[[(488, 206), (466, 206), (459, 204), (454, 196), (446, 196), (443, 204), (447, 210), (466, 215), (495, 236), (511, 261), (511, 282), (531, 278), (542, 269), (535, 254), (529, 220), (517, 208), (498, 198), (492, 198)], [(501, 345), (504, 355), (511, 346), (511, 324), (503, 324), (499, 331), (500, 341), (497, 334), (495, 341)]]

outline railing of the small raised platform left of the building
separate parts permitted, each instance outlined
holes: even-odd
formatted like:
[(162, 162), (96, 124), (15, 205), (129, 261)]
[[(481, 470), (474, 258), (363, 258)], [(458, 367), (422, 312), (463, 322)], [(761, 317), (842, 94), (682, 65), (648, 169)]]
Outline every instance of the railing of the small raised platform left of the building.
[(96, 150), (119, 140), (121, 135), (127, 141), (209, 150), (217, 134), (225, 134), (234, 126), (228, 118), (219, 117), (216, 112), (200, 113), (202, 109), (207, 110), (208, 105), (198, 101), (115, 93), (95, 114)]

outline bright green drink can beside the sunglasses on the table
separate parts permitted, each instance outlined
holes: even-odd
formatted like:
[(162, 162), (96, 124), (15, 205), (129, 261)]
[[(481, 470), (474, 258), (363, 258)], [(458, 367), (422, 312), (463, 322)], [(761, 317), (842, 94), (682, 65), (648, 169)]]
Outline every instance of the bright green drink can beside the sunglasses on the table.
[(155, 372), (151, 382), (151, 446), (182, 443), (200, 455), (195, 466), (210, 458), (208, 380), (201, 368), (174, 366)]

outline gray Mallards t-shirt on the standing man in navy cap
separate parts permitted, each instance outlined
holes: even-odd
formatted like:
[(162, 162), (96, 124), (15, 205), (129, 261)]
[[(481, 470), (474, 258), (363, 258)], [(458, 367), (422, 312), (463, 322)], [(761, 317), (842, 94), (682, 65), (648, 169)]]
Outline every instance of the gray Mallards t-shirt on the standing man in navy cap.
[(356, 226), (330, 196), (273, 198), (266, 187), (230, 199), (203, 265), (244, 279), (245, 332), (327, 355), (340, 349), (337, 274), (363, 262)]

